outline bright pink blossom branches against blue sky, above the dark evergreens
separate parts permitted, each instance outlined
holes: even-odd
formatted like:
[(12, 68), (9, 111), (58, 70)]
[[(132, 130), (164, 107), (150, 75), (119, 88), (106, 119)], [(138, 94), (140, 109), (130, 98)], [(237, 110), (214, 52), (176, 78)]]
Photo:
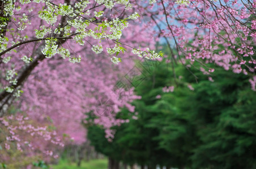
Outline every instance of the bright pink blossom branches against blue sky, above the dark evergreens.
[(146, 27), (155, 28), (152, 36), (168, 44), (173, 68), (178, 60), (187, 69), (199, 62), (198, 69), (210, 75), (214, 68), (208, 64), (214, 63), (234, 73), (251, 75), (255, 91), (256, 1), (153, 2), (137, 2), (135, 8), (143, 16), (139, 19), (147, 19)]

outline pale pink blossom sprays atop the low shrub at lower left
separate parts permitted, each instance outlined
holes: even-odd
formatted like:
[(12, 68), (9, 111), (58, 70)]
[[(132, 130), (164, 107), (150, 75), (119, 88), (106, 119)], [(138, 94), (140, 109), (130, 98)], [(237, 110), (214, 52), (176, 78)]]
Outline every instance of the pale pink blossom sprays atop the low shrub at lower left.
[[(41, 151), (45, 155), (53, 156), (53, 153), (46, 153), (52, 152), (52, 150), (43, 150), (37, 143), (34, 143), (38, 138), (40, 138), (41, 144), (44, 140), (50, 144), (64, 146), (55, 131), (49, 131), (47, 126), (33, 126), (32, 121), (23, 115), (2, 117), (0, 118), (0, 126), (2, 129), (1, 135), (5, 136), (1, 144), (2, 147), (5, 147), (7, 152), (11, 148), (12, 150), (17, 149), (20, 152), (31, 149)], [(1, 137), (1, 139), (3, 138)], [(57, 157), (57, 154), (54, 156)]]

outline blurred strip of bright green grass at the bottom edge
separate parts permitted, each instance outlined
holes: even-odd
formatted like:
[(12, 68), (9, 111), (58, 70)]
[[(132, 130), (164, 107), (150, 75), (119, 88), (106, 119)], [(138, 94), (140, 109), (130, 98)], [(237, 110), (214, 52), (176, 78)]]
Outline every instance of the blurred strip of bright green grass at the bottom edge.
[(88, 162), (82, 161), (81, 166), (78, 167), (76, 163), (71, 163), (61, 159), (58, 165), (52, 165), (53, 169), (106, 169), (108, 168), (107, 159), (92, 159)]

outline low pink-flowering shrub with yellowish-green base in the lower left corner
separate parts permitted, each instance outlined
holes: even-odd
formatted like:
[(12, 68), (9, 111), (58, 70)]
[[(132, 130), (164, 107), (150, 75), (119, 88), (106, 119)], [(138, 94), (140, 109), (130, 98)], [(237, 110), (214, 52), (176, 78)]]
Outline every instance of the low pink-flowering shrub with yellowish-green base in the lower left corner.
[(36, 124), (22, 114), (0, 118), (0, 127), (0, 159), (3, 164), (11, 164), (10, 168), (25, 167), (38, 159), (58, 158), (56, 150), (66, 140), (50, 130), (49, 125)]

